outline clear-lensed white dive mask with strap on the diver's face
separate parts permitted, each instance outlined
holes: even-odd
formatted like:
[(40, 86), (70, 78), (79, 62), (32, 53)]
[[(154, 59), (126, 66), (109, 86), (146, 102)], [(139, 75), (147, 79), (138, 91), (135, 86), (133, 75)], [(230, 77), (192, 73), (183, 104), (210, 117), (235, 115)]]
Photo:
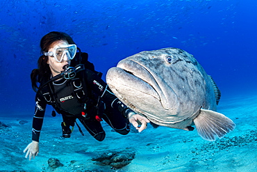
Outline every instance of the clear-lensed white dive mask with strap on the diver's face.
[(67, 56), (67, 61), (72, 60), (76, 55), (76, 45), (61, 45), (53, 47), (52, 52), (44, 52), (44, 56), (52, 56), (58, 62), (63, 61), (64, 56)]

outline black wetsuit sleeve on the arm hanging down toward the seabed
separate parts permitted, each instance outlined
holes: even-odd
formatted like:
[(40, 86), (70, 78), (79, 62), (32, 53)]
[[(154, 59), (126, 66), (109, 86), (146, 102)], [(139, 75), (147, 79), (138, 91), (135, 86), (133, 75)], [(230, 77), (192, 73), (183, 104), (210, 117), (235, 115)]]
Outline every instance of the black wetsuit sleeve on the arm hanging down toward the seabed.
[(47, 102), (40, 98), (38, 95), (35, 97), (35, 114), (32, 123), (32, 140), (39, 141), (40, 132), (43, 125), (45, 109), (47, 107)]

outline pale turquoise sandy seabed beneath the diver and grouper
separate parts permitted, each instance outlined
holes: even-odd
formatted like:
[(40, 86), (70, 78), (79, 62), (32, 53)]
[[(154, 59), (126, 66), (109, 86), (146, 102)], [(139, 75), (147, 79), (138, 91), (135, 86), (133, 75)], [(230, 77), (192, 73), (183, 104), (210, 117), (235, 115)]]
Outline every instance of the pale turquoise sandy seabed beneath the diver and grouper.
[[(29, 161), (24, 158), (24, 148), (31, 142), (31, 118), (10, 114), (0, 121), (10, 127), (0, 129), (1, 171), (190, 171), (233, 172), (257, 171), (257, 95), (234, 95), (222, 100), (219, 113), (231, 118), (237, 125), (235, 130), (215, 142), (205, 141), (197, 130), (186, 132), (167, 127), (137, 133), (132, 130), (122, 136), (113, 132), (103, 122), (106, 139), (96, 141), (81, 128), (82, 136), (75, 126), (72, 137), (63, 139), (61, 118), (45, 117), (40, 136), (40, 153)], [(5, 114), (1, 114), (5, 116)], [(28, 116), (28, 114), (24, 114)], [(20, 124), (21, 120), (28, 123)], [(103, 166), (94, 157), (112, 151), (135, 152), (135, 158), (121, 169)], [(63, 166), (49, 169), (48, 159), (57, 158)]]

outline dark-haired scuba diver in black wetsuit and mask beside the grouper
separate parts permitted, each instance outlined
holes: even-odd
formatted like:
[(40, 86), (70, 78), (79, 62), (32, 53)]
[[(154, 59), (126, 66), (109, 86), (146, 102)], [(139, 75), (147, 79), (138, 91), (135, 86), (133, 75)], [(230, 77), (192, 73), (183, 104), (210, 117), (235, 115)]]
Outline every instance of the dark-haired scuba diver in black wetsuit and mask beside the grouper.
[(32, 142), (24, 149), (26, 158), (31, 160), (38, 155), (47, 104), (54, 109), (52, 116), (56, 116), (56, 112), (62, 115), (65, 138), (71, 136), (75, 124), (83, 134), (76, 119), (97, 141), (103, 141), (106, 136), (102, 120), (123, 135), (130, 131), (130, 123), (139, 132), (147, 127), (150, 121), (117, 99), (101, 79), (101, 72), (95, 71), (88, 61), (88, 54), (81, 52), (67, 33), (47, 33), (42, 37), (40, 47), (43, 55), (38, 59), (38, 69), (31, 72), (32, 87), (36, 92), (35, 114)]

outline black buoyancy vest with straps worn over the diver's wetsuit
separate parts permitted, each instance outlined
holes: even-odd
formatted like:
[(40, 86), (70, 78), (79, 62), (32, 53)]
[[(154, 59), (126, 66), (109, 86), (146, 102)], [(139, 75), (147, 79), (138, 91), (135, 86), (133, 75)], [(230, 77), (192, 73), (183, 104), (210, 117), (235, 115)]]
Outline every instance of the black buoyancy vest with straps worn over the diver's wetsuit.
[[(92, 70), (99, 77), (102, 76), (101, 72), (97, 72), (94, 70), (93, 63), (90, 63), (90, 61), (88, 61), (87, 53), (76, 53), (76, 56), (71, 61), (71, 66), (76, 66), (77, 63), (82, 63), (85, 66), (85, 69)], [(72, 93), (67, 97), (61, 97), (62, 93), (58, 93), (58, 95), (56, 94), (56, 86), (53, 85), (53, 82), (49, 82), (49, 84), (47, 84), (43, 88), (40, 88), (40, 91), (37, 93), (38, 97), (44, 98), (44, 100), (47, 101), (47, 104), (51, 105), (58, 114), (63, 114), (65, 116), (80, 115), (78, 113), (71, 114), (69, 111), (65, 110), (65, 108), (63, 108), (62, 106), (62, 101), (66, 101), (67, 99), (71, 98), (69, 96), (72, 96), (74, 100), (70, 101), (71, 104), (69, 104), (69, 106), (72, 107), (73, 105), (76, 105), (76, 108), (81, 109), (81, 112), (95, 107), (97, 102), (99, 102), (99, 97), (94, 95), (89, 86), (86, 85), (85, 79), (87, 78), (88, 77), (85, 75), (85, 70), (82, 70), (76, 73), (76, 77), (67, 80), (67, 83), (65, 83), (64, 91)], [(40, 83), (40, 86), (42, 86), (45, 82), (46, 81), (42, 81)]]

